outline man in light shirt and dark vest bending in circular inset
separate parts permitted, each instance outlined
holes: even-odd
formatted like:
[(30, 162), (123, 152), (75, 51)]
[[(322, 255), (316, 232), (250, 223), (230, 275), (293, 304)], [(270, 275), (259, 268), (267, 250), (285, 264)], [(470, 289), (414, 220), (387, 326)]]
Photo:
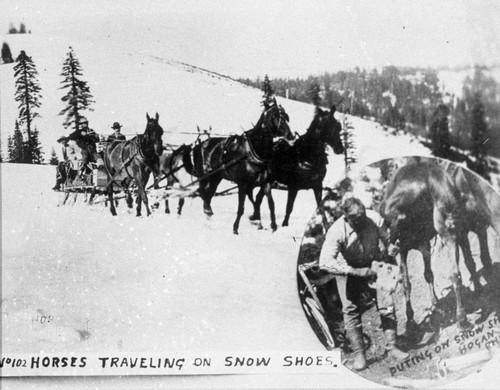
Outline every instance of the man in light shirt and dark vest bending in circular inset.
[[(380, 243), (389, 256), (397, 254), (397, 247), (389, 244), (389, 232), (382, 217), (373, 210), (365, 210), (359, 199), (346, 199), (342, 212), (344, 217), (335, 221), (326, 234), (319, 265), (336, 275), (346, 336), (353, 350), (352, 368), (360, 371), (367, 367), (361, 324), (362, 292), (367, 291), (368, 283), (377, 279), (377, 273), (370, 267), (381, 258)], [(385, 350), (398, 360), (408, 358), (407, 353), (396, 347), (394, 305), (383, 305), (379, 299), (377, 306)]]

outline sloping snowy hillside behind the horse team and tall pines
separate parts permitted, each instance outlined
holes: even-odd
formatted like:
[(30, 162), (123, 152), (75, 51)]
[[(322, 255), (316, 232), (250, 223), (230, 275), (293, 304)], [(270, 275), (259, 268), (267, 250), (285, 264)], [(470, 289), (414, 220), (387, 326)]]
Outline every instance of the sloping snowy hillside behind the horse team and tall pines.
[[(32, 56), (39, 71), (42, 118), (37, 119), (35, 125), (48, 159), (52, 147), (60, 152), (55, 140), (69, 133), (64, 130), (58, 113), (63, 108), (59, 73), (70, 44), (63, 38), (20, 34), (9, 35), (7, 42), (13, 53), (25, 50)], [(119, 121), (122, 132), (132, 136), (144, 130), (146, 112), (158, 112), (165, 130), (164, 142), (175, 145), (193, 142), (197, 126), (201, 129), (211, 126), (215, 134), (241, 133), (260, 116), (261, 91), (229, 77), (140, 51), (104, 49), (96, 42), (76, 40), (71, 46), (96, 101), (95, 110), (86, 115), (90, 126), (100, 134), (111, 133), (111, 124)], [(0, 66), (3, 145), (17, 117), (12, 68), (12, 64)], [(282, 98), (279, 102), (290, 116), (292, 131), (303, 133), (312, 120), (314, 107)], [(337, 118), (340, 119), (339, 114)], [(352, 118), (352, 123), (361, 165), (392, 156), (429, 155), (429, 151), (410, 136), (396, 140), (374, 122)], [(343, 175), (341, 156), (332, 156), (330, 166), (327, 184)]]

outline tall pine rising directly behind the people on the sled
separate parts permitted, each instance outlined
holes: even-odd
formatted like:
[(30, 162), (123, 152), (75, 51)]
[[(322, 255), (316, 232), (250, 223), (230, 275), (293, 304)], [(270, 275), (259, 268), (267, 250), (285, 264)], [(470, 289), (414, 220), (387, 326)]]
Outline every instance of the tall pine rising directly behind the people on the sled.
[(83, 75), (82, 67), (80, 61), (75, 57), (72, 47), (69, 48), (69, 52), (66, 55), (67, 57), (63, 63), (61, 72), (63, 81), (61, 82), (62, 87), (60, 89), (67, 89), (68, 91), (61, 99), (66, 104), (66, 107), (59, 115), (66, 116), (63, 123), (65, 128), (73, 127), (75, 130), (78, 130), (81, 120), (85, 118), (82, 115), (82, 111), (93, 111), (90, 106), (95, 102), (92, 100), (93, 96), (90, 93), (87, 82), (81, 79)]

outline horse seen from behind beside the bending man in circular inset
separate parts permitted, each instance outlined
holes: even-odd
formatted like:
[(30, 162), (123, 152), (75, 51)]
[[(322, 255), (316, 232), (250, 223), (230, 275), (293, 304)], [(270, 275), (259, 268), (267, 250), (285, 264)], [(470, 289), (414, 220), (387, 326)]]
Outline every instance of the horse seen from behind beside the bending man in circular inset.
[(430, 241), (439, 235), (445, 242), (455, 245), (455, 262), (452, 262), (449, 279), (455, 290), (456, 320), (460, 328), (470, 328), (462, 300), (459, 247), (474, 283), (477, 282), (477, 274), (464, 227), (463, 203), (450, 175), (442, 167), (430, 162), (416, 161), (400, 167), (387, 185), (379, 211), (390, 226), (391, 243), (400, 246), (408, 323), (414, 324), (408, 252), (416, 249), (422, 254), (424, 278), (429, 287), (433, 310), (437, 305), (437, 296), (431, 269)]

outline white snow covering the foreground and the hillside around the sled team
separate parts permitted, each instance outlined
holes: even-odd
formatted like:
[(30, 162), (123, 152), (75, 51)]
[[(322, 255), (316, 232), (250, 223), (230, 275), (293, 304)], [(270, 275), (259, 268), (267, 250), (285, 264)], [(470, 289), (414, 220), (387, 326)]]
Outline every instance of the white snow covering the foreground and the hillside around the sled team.
[[(37, 127), (49, 157), (55, 139), (67, 134), (57, 114), (68, 42), (12, 35), (8, 43), (13, 53), (24, 49), (33, 56), (40, 72), (44, 102)], [(261, 92), (229, 78), (135, 49), (104, 49), (84, 40), (71, 45), (96, 100), (88, 117), (98, 133), (109, 134), (114, 121), (127, 135), (142, 132), (146, 112), (159, 112), (164, 141), (190, 143), (196, 126), (212, 126), (217, 134), (241, 133), (260, 115)], [(0, 77), (4, 141), (16, 117), (12, 66), (1, 66)], [(290, 115), (292, 131), (304, 132), (314, 108), (279, 102)], [(430, 154), (410, 136), (350, 120), (358, 167)], [(344, 175), (342, 156), (330, 154), (329, 160), (325, 186)], [(81, 198), (58, 207), (60, 194), (50, 189), (54, 173), (51, 166), (1, 165), (3, 353), (324, 351), (302, 311), (296, 281), (300, 240), (315, 209), (312, 193), (299, 193), (290, 227), (271, 233), (263, 207), (266, 229), (256, 230), (245, 217), (235, 236), (235, 195), (214, 199), (211, 220), (198, 198), (187, 200), (181, 217), (157, 210), (136, 218), (123, 202), (118, 216), (111, 217), (103, 204), (89, 206)], [(280, 223), (286, 193), (274, 195)], [(246, 214), (249, 210), (247, 203)], [(367, 383), (347, 371), (344, 378), (345, 386)], [(211, 380), (214, 387), (268, 384), (265, 378)], [(275, 380), (284, 387), (331, 381), (325, 376), (314, 382)], [(184, 378), (175, 385), (196, 387), (196, 382)]]

